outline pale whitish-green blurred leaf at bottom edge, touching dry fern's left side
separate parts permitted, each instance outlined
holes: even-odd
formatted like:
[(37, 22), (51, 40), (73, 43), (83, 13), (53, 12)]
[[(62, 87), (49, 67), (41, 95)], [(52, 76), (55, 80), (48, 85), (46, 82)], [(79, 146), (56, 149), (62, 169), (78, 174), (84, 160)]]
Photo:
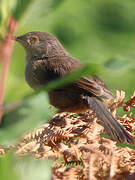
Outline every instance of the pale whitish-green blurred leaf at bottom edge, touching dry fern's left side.
[(15, 169), (18, 180), (50, 180), (52, 160), (39, 160), (27, 156), (16, 158)]

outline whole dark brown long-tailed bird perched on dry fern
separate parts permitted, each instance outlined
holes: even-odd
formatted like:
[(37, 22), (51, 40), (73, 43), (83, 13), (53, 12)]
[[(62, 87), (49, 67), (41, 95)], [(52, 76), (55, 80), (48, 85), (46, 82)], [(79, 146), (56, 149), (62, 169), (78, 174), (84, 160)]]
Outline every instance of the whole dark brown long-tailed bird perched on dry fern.
[[(70, 56), (60, 42), (48, 33), (29, 32), (15, 40), (25, 48), (25, 78), (34, 89), (82, 67), (82, 63)], [(112, 97), (106, 85), (96, 76), (82, 77), (49, 92), (50, 104), (60, 112), (84, 112), (92, 109), (113, 140), (134, 144), (133, 137), (113, 117), (103, 102), (104, 98)]]

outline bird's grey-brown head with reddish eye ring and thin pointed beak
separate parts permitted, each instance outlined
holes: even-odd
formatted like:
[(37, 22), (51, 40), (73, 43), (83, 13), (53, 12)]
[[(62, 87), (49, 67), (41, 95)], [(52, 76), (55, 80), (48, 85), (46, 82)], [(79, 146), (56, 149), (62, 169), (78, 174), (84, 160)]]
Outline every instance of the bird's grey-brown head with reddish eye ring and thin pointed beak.
[(68, 54), (60, 42), (46, 32), (28, 32), (13, 39), (24, 47), (27, 61)]

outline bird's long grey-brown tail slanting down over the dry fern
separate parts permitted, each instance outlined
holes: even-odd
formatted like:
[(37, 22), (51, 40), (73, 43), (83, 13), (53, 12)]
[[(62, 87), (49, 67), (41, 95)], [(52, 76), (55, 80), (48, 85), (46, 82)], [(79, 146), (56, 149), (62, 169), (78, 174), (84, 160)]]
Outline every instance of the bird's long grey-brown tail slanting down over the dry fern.
[(88, 97), (87, 103), (97, 117), (102, 121), (107, 134), (112, 140), (121, 143), (135, 144), (133, 137), (122, 127), (122, 125), (113, 117), (104, 103), (96, 97)]

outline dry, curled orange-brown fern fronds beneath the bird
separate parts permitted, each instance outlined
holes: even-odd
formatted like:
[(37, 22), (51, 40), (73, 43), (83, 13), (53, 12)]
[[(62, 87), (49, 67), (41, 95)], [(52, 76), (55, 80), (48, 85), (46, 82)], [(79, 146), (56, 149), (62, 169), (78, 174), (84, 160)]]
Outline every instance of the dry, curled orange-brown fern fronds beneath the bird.
[[(120, 123), (134, 133), (135, 117), (131, 107), (135, 107), (135, 93), (124, 102), (125, 93), (116, 93), (107, 106)], [(117, 108), (124, 114), (117, 116)], [(16, 148), (21, 156), (32, 154), (35, 158), (55, 158), (52, 171), (54, 180), (121, 180), (135, 179), (135, 150), (118, 147), (116, 142), (101, 137), (104, 128), (97, 123), (93, 111), (86, 113), (60, 113), (43, 127), (23, 135)], [(4, 153), (5, 151), (0, 150)]]

